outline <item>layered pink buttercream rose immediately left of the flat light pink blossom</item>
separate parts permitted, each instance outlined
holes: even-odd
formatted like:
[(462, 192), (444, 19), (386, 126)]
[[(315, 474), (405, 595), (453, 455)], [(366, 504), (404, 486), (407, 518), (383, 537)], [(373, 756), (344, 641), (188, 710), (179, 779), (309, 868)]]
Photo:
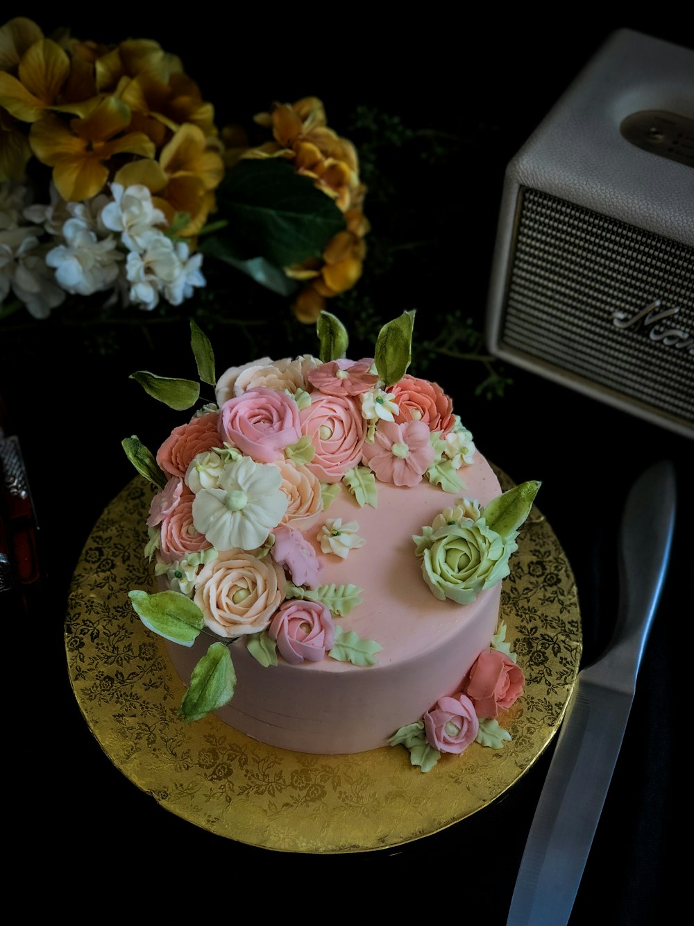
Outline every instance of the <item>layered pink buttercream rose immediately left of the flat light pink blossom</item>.
[(340, 482), (362, 458), (365, 421), (360, 407), (348, 395), (311, 394), (311, 405), (299, 414), (302, 432), (316, 454), (306, 469), (321, 482)]

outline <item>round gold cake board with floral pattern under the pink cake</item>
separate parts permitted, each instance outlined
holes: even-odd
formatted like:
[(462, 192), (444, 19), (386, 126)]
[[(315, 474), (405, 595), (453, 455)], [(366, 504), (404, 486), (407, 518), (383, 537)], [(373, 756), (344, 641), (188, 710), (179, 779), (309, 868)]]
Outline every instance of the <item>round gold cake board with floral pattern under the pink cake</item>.
[[(494, 469), (504, 489), (513, 484)], [(98, 519), (72, 579), (65, 640), (72, 688), (94, 736), (161, 807), (266, 849), (351, 853), (402, 845), (489, 805), (557, 732), (576, 682), (580, 613), (571, 567), (537, 508), (502, 587), (507, 640), (526, 674), (523, 697), (500, 718), (513, 742), (499, 750), (474, 743), (423, 773), (403, 746), (314, 756), (257, 743), (214, 716), (188, 724), (178, 718), (183, 684), (164, 641), (145, 629), (128, 598), (134, 588), (157, 591), (143, 557), (151, 497), (138, 476)]]

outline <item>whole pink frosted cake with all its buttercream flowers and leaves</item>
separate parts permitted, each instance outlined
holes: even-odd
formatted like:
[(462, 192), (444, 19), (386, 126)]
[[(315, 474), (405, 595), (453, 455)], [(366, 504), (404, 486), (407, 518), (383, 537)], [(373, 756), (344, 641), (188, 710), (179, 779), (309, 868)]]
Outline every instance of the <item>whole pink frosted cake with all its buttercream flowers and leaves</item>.
[(451, 399), (405, 372), (412, 320), (352, 361), (329, 359), (329, 317), (325, 361), (229, 369), (156, 457), (124, 442), (159, 488), (146, 553), (166, 589), (130, 598), (167, 638), (182, 720), (214, 711), (309, 753), (403, 744), (425, 771), (482, 732), (508, 739), (523, 673), (501, 580), (538, 483), (502, 494)]

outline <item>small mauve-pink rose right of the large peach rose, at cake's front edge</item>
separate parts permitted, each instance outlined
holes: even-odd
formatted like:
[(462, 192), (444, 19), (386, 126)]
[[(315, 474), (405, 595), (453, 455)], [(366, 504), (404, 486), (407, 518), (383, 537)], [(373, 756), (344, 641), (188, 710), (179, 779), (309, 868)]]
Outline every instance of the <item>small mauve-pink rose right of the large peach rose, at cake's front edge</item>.
[(292, 666), (304, 659), (318, 662), (332, 648), (335, 625), (319, 601), (285, 601), (272, 619), (268, 634)]

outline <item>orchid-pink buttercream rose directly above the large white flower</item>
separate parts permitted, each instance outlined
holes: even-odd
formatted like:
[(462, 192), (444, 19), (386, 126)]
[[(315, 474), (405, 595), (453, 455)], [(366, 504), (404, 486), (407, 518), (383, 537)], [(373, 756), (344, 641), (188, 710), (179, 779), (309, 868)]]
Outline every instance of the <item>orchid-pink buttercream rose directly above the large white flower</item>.
[(248, 457), (272, 463), (302, 436), (299, 407), (286, 393), (253, 389), (224, 403), (219, 433)]

